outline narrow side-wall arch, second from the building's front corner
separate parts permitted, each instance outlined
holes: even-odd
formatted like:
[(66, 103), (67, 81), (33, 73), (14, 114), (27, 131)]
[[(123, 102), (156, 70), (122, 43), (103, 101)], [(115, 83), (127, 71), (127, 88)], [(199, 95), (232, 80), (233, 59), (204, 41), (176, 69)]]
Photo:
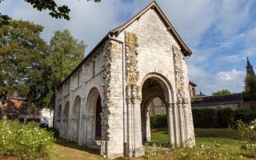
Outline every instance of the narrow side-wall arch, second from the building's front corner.
[(71, 119), (71, 124), (72, 124), (71, 140), (75, 142), (78, 142), (80, 108), (81, 108), (81, 98), (80, 96), (77, 96), (74, 99), (73, 117)]

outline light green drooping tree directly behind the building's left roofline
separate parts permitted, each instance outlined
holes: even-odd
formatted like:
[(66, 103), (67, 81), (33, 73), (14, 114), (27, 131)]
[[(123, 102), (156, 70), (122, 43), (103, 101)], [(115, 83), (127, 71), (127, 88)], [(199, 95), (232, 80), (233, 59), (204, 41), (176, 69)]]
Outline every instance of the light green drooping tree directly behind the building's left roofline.
[(50, 91), (46, 104), (54, 106), (54, 90), (84, 58), (86, 44), (75, 39), (69, 30), (56, 31), (50, 39), (49, 62), (51, 67)]

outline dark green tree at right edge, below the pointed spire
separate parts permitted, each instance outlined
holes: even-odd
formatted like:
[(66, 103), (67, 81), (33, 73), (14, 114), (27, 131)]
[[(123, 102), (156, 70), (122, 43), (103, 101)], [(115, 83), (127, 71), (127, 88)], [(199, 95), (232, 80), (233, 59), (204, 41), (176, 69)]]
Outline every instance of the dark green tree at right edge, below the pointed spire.
[(256, 101), (256, 76), (246, 77), (246, 87), (243, 92), (244, 101)]

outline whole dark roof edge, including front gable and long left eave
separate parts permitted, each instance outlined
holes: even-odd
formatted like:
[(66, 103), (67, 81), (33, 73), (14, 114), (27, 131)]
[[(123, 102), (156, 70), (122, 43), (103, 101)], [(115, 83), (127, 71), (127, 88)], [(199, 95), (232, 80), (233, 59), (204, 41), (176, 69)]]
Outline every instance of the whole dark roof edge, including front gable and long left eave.
[(160, 7), (158, 6), (157, 2), (153, 1), (150, 3), (149, 6), (146, 6), (146, 8), (144, 8), (141, 12), (139, 12), (138, 14), (136, 14), (133, 18), (131, 18), (128, 22), (126, 22), (125, 24), (123, 24), (122, 26), (118, 26), (117, 28), (115, 28), (114, 30), (110, 30), (110, 32), (108, 34), (106, 34), (106, 36), (104, 38), (102, 38), (102, 40), (98, 43), (97, 46), (94, 47), (93, 50), (90, 51), (90, 53), (86, 56), (86, 58), (84, 58), (82, 60), (82, 62), (80, 62), (78, 64), (78, 66), (64, 79), (64, 81), (61, 82), (61, 84), (58, 85), (57, 88), (59, 88), (60, 86), (62, 86), (62, 84), (64, 82), (66, 82), (66, 80), (68, 78), (70, 78), (70, 76), (72, 74), (74, 74), (74, 72), (76, 70), (78, 70), (78, 68), (80, 66), (82, 66), (82, 64), (84, 62), (86, 62), (86, 60), (88, 58), (90, 58), (90, 56), (92, 54), (94, 54), (94, 51), (98, 49), (99, 46), (102, 45), (103, 42), (105, 42), (108, 38), (109, 38), (109, 35), (117, 35), (119, 34), (122, 30), (125, 30), (127, 26), (130, 26), (130, 24), (132, 22), (134, 22), (136, 19), (140, 18), (142, 16), (142, 14), (145, 14), (147, 10), (150, 10), (150, 9), (154, 9), (160, 18), (162, 18), (162, 21), (166, 24), (166, 28), (167, 30), (170, 31), (170, 33), (174, 36), (174, 38), (177, 40), (178, 44), (181, 46), (181, 49), (182, 49), (182, 54), (184, 54), (184, 56), (190, 56), (192, 54), (191, 50), (186, 46), (186, 44), (182, 41), (182, 38), (179, 37), (178, 33), (176, 32), (176, 30), (174, 30), (174, 27), (170, 24), (169, 20), (166, 18), (166, 15), (163, 14), (162, 10), (160, 9)]

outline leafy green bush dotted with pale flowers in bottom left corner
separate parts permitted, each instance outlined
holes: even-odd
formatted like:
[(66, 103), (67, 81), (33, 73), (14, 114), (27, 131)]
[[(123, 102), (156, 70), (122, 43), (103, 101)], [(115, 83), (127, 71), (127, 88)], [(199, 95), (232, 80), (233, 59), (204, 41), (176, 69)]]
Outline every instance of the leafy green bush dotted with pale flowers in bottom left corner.
[(43, 158), (54, 146), (53, 133), (40, 128), (38, 123), (0, 122), (0, 126), (0, 157)]

